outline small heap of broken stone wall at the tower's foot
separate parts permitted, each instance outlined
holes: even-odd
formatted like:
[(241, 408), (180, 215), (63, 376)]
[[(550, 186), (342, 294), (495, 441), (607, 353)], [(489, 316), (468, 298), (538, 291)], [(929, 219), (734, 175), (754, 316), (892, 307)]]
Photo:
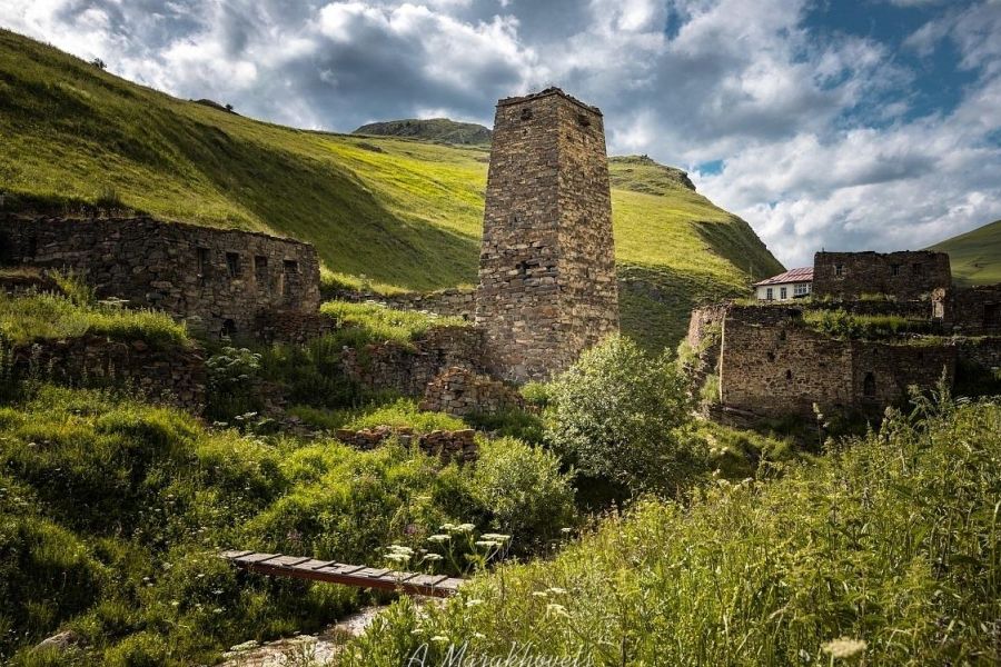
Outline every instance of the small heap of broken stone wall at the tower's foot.
[(494, 415), (523, 409), (525, 400), (517, 389), (468, 368), (449, 368), (428, 382), (422, 410), (446, 412), (455, 417)]

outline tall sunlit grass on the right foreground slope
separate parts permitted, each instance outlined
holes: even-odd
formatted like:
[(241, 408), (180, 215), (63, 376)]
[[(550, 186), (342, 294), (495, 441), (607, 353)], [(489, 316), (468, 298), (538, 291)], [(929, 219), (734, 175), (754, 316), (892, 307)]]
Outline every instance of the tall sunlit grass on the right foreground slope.
[(843, 664), (997, 664), (1001, 406), (928, 407), (779, 478), (613, 514), (440, 609), (402, 603), (344, 664), (516, 643), (595, 665), (827, 665), (839, 638), (864, 643)]

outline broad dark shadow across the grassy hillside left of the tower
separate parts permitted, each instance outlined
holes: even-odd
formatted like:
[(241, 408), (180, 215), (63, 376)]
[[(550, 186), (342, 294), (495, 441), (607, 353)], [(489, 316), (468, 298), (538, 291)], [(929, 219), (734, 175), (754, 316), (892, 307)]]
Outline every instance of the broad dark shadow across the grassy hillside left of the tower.
[(228, 199), (272, 230), (313, 242), (335, 270), (412, 289), (476, 277), (478, 238), (399, 219), (333, 159), (234, 138), (180, 116), (163, 126), (177, 130), (171, 142)]

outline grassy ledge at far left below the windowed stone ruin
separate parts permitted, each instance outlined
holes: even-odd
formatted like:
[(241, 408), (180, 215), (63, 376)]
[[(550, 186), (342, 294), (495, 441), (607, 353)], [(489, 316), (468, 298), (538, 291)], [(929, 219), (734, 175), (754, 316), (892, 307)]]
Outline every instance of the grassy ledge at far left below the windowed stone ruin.
[(81, 305), (50, 293), (11, 297), (0, 292), (0, 335), (13, 345), (87, 335), (161, 346), (189, 342), (185, 326), (163, 312)]

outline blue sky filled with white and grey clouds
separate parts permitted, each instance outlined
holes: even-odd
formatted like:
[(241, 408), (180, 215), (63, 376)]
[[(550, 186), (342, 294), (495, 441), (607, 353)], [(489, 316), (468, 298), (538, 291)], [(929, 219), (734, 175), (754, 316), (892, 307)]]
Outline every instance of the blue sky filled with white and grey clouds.
[(0, 24), (307, 128), (490, 125), (561, 86), (786, 266), (1001, 218), (1001, 0), (2, 0)]

